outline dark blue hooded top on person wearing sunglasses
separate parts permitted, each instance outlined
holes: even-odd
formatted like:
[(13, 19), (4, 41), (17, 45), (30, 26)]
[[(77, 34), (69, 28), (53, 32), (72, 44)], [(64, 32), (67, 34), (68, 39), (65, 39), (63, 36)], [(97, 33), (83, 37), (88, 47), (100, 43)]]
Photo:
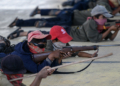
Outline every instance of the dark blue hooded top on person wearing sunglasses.
[(39, 72), (45, 66), (51, 66), (47, 60), (39, 65), (32, 60), (32, 53), (29, 51), (27, 41), (18, 43), (11, 54), (18, 55), (23, 60), (24, 67), (32, 73)]

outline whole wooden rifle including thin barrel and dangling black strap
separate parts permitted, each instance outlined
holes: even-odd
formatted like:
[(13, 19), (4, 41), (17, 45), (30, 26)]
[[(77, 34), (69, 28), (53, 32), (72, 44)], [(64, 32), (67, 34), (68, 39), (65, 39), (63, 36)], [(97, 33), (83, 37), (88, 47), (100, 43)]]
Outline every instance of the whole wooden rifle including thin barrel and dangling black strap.
[[(63, 47), (63, 49), (61, 49), (61, 51), (63, 51), (63, 52), (78, 52), (78, 51), (85, 51), (85, 50), (98, 50), (99, 47), (109, 47), (109, 46), (120, 46), (120, 44), (94, 45), (94, 46), (66, 46), (66, 47)], [(50, 53), (52, 53), (52, 52), (46, 52), (46, 53), (41, 53), (41, 54), (33, 54), (32, 59), (35, 63), (40, 63), (43, 60), (45, 60)], [(55, 71), (54, 74), (73, 74), (73, 73), (77, 73), (77, 72), (82, 72), (85, 69), (87, 69), (93, 61), (94, 60), (92, 60), (86, 67), (84, 67), (83, 69), (80, 69), (78, 71), (75, 71), (75, 72)]]

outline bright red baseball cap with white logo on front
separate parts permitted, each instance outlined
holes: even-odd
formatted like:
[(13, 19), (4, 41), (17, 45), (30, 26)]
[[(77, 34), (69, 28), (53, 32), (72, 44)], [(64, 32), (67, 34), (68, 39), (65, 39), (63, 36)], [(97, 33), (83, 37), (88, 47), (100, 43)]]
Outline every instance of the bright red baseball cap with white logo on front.
[(73, 38), (65, 31), (61, 26), (53, 26), (50, 30), (50, 35), (52, 36), (51, 40), (59, 39), (63, 43), (68, 43)]

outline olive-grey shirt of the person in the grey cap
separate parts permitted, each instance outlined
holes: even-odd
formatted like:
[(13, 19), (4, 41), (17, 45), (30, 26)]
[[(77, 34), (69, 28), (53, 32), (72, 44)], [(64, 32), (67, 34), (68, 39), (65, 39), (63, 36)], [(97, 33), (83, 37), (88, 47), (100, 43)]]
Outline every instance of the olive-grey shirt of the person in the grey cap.
[(87, 20), (82, 26), (73, 27), (70, 35), (73, 41), (99, 42), (102, 40), (102, 34), (98, 32), (97, 23), (93, 19)]

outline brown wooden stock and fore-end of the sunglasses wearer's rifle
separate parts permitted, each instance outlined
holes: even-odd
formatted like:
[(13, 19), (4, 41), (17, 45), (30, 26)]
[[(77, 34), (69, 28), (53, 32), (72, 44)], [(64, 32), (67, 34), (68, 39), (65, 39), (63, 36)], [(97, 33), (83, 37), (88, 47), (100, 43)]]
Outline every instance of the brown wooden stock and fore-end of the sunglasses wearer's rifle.
[[(61, 49), (60, 51), (62, 52), (78, 52), (78, 51), (86, 51), (86, 50), (97, 50), (98, 46), (69, 46), (69, 47), (63, 47), (63, 49)], [(40, 53), (40, 54), (33, 54), (32, 55), (32, 60), (35, 63), (40, 63), (43, 60), (45, 60), (49, 54), (51, 54), (52, 52), (45, 52), (45, 53)]]

